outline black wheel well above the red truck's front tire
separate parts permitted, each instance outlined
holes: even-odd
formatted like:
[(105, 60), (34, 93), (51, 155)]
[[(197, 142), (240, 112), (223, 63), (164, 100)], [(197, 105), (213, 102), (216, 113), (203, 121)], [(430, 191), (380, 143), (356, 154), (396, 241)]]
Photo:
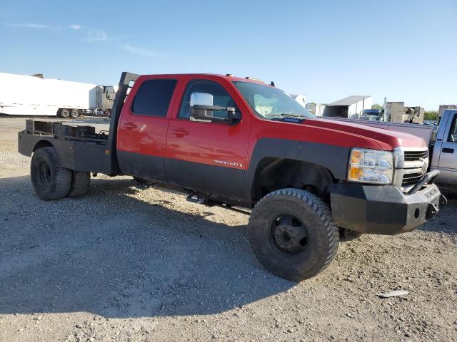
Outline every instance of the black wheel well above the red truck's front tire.
[(252, 199), (257, 202), (275, 190), (293, 187), (308, 190), (325, 199), (333, 182), (331, 172), (321, 165), (301, 160), (263, 158), (253, 178)]

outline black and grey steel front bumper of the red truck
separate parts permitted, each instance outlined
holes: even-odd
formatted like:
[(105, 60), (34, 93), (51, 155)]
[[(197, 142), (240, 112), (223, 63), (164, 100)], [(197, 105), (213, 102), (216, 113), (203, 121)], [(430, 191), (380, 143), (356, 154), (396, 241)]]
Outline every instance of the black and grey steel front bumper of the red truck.
[(438, 187), (427, 184), (436, 178), (431, 174), (424, 176), (421, 188), (413, 188), (408, 194), (393, 185), (332, 185), (333, 219), (338, 227), (361, 233), (409, 232), (434, 217), (447, 204)]

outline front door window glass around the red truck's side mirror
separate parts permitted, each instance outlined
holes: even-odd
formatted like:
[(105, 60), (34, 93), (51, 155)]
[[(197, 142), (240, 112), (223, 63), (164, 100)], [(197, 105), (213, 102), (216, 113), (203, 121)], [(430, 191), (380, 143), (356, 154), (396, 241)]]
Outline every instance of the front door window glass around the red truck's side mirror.
[[(189, 118), (191, 115), (191, 93), (211, 94), (213, 95), (213, 105), (238, 109), (235, 101), (219, 83), (208, 80), (192, 80), (189, 81), (184, 92), (181, 108), (179, 108), (179, 118)], [(226, 110), (214, 110), (213, 115), (224, 118), (227, 116), (227, 112)]]

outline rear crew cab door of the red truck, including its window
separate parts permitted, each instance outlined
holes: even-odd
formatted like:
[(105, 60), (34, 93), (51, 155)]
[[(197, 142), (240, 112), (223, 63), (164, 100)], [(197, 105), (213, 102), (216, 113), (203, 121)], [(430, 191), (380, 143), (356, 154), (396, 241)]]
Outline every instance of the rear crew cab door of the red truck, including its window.
[(166, 130), (176, 79), (141, 76), (121, 112), (117, 160), (126, 175), (164, 182)]

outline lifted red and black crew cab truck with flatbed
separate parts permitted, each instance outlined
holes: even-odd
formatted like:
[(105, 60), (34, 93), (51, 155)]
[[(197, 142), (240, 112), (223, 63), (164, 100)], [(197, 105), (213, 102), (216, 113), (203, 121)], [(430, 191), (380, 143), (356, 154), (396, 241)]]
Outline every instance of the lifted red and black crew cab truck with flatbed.
[(123, 73), (109, 133), (27, 120), (19, 152), (44, 200), (83, 195), (101, 172), (251, 214), (258, 260), (294, 281), (328, 266), (345, 229), (408, 232), (446, 204), (423, 139), (315, 118), (273, 83), (231, 75)]

